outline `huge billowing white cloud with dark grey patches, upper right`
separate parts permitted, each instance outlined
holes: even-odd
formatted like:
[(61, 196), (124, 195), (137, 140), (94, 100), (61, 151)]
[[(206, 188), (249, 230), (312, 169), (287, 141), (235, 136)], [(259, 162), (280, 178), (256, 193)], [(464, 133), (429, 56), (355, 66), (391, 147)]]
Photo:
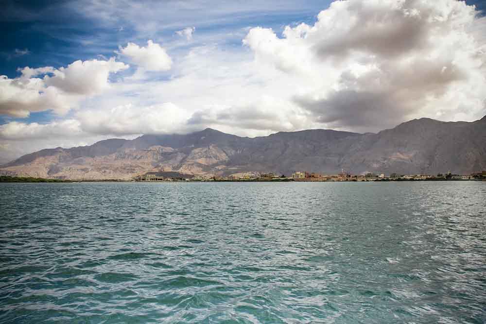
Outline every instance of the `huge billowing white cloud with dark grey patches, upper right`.
[(484, 37), (471, 32), (485, 21), (476, 14), (455, 0), (335, 1), (312, 26), (287, 26), (282, 38), (253, 28), (243, 44), (293, 75), (293, 102), (330, 127), (470, 120), (485, 114), (486, 99)]

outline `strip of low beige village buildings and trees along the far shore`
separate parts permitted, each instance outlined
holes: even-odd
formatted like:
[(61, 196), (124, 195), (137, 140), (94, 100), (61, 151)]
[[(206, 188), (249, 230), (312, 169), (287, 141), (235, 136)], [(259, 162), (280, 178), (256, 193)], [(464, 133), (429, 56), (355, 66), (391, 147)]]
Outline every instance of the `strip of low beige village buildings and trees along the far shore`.
[[(354, 175), (345, 171), (338, 174), (321, 174), (316, 172), (295, 171), (291, 176), (277, 174), (274, 172), (243, 172), (235, 173), (226, 177), (207, 176), (207, 175), (184, 175), (171, 174), (164, 175), (164, 172), (147, 172), (135, 177), (134, 181), (301, 181), (301, 182), (342, 182), (342, 181), (486, 181), (486, 171), (474, 172), (471, 174), (453, 174), (451, 172), (438, 174), (397, 174), (384, 173), (375, 174), (364, 172), (364, 174)], [(175, 172), (176, 173), (176, 172)]]

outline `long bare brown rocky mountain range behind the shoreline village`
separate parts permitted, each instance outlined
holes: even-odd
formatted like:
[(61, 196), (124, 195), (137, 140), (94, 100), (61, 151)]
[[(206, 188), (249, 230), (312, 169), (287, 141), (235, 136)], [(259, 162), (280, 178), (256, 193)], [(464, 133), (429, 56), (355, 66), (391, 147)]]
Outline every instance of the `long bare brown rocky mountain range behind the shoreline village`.
[(149, 171), (228, 175), (296, 170), (337, 173), (470, 173), (486, 170), (486, 117), (414, 119), (377, 134), (333, 130), (239, 137), (207, 128), (187, 135), (107, 139), (24, 155), (0, 174), (63, 179), (131, 179)]

